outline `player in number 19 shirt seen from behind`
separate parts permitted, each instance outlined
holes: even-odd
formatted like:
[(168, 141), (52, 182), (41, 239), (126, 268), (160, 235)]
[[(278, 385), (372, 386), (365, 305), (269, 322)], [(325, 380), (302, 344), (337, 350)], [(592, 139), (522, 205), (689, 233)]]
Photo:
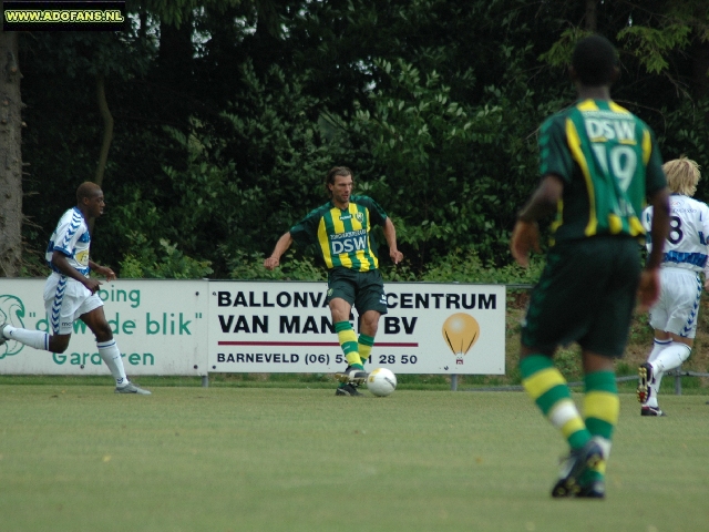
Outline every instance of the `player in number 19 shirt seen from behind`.
[[(556, 212), (555, 243), (522, 328), (520, 369), (524, 388), (571, 448), (552, 497), (604, 498), (620, 409), (614, 359), (625, 350), (638, 287), (645, 306), (659, 293), (661, 246), (640, 272), (639, 217), (649, 197), (651, 237), (662, 242), (668, 192), (653, 132), (610, 100), (618, 75), (610, 42), (580, 40), (569, 73), (579, 100), (542, 125), (542, 183), (512, 234), (512, 254), (526, 266), (530, 250), (538, 249), (537, 219)], [(558, 346), (573, 341), (582, 348), (584, 417), (553, 360)]]

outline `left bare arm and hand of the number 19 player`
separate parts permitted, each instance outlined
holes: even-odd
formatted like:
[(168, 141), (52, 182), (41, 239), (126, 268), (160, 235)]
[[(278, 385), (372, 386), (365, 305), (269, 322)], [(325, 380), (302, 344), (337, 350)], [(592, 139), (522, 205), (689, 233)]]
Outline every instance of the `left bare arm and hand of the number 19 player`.
[(552, 214), (564, 192), (564, 182), (556, 175), (545, 175), (527, 204), (520, 211), (512, 232), (510, 250), (522, 267), (530, 265), (530, 253), (540, 253), (537, 219)]

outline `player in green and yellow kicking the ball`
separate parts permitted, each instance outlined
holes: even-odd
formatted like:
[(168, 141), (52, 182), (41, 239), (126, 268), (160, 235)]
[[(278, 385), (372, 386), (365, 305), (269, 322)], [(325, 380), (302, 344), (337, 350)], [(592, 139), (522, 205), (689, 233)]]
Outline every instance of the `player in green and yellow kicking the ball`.
[[(357, 387), (367, 379), (364, 360), (374, 345), (379, 318), (387, 314), (384, 284), (370, 235), (373, 226), (382, 226), (394, 264), (403, 258), (397, 249), (397, 231), (387, 213), (371, 197), (353, 196), (352, 186), (352, 172), (348, 167), (331, 168), (326, 178), (330, 201), (285, 233), (271, 256), (264, 260), (267, 269), (276, 268), (294, 241), (315, 244), (320, 250), (328, 267), (327, 301), (348, 362), (345, 371), (336, 374), (340, 381), (338, 396), (361, 396)], [(360, 317), (359, 338), (350, 324), (352, 306)]]

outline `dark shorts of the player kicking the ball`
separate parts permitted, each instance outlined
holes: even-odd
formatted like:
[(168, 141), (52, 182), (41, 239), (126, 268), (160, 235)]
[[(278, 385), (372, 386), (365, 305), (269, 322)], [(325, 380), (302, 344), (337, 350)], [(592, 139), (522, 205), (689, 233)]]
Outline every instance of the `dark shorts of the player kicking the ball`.
[(328, 273), (328, 298), (339, 297), (357, 308), (361, 316), (367, 310), (387, 314), (384, 282), (379, 269), (356, 272), (350, 268), (332, 268)]

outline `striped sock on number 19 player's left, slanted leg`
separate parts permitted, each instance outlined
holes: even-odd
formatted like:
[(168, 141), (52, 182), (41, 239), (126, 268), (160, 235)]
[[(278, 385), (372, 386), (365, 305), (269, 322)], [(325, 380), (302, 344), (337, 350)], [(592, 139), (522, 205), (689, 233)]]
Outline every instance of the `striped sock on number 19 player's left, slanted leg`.
[(522, 385), (542, 413), (561, 430), (572, 449), (580, 449), (590, 440), (566, 379), (549, 357), (532, 355), (520, 362)]

